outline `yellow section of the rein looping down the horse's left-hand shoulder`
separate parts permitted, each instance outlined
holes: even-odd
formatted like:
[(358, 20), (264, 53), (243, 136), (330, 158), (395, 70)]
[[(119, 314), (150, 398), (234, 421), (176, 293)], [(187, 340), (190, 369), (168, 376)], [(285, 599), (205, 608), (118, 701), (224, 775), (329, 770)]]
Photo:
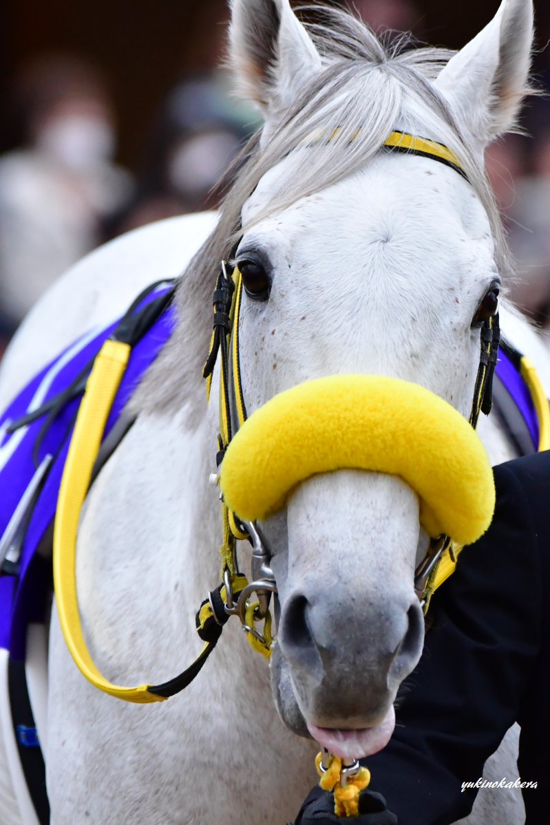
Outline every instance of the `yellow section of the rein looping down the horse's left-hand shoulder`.
[(97, 670), (84, 640), (76, 587), (76, 540), (80, 510), (88, 493), (107, 416), (129, 357), (128, 344), (106, 341), (88, 378), (59, 488), (54, 527), (54, 585), (59, 623), (78, 670), (94, 687), (116, 696), (116, 699), (146, 704), (164, 701), (165, 697), (149, 693), (148, 685), (113, 685)]

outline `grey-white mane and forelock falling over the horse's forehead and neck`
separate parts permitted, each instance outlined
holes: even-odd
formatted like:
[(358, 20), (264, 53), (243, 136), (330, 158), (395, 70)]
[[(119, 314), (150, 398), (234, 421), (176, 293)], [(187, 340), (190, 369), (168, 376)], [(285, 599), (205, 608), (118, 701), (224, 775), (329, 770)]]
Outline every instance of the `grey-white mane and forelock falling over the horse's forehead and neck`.
[[(293, 169), (292, 176), (282, 177), (276, 196), (254, 216), (254, 224), (358, 172), (398, 129), (434, 139), (456, 154), (490, 221), (496, 266), (505, 280), (511, 274), (500, 213), (479, 150), (433, 85), (454, 52), (415, 47), (410, 35), (376, 35), (351, 12), (334, 7), (301, 7), (299, 13), (315, 16), (304, 22), (321, 55), (322, 71), (276, 123), (268, 119), (265, 139), (258, 130), (230, 168), (226, 177), (238, 174), (220, 206), (216, 229), (183, 272), (176, 293), (177, 326), (135, 393), (135, 413), (187, 408), (189, 426), (202, 420), (202, 367), (220, 262), (230, 257), (242, 233), (244, 203), (261, 178), (293, 151), (307, 152), (307, 163), (300, 164), (299, 174)], [(361, 133), (353, 139), (359, 127)], [(339, 130), (338, 139), (320, 139), (334, 130)]]

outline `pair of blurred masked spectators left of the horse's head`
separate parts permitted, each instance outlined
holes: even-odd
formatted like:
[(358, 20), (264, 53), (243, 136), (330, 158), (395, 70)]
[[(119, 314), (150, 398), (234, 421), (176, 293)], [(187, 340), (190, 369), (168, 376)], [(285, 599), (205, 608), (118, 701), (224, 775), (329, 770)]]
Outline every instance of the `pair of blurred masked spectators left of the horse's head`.
[[(21, 144), (0, 157), (0, 337), (87, 252), (153, 220), (211, 209), (216, 181), (258, 125), (221, 72), (178, 82), (151, 117), (137, 172), (115, 162), (102, 73), (66, 54), (14, 82)], [(0, 347), (2, 347), (0, 342)]]

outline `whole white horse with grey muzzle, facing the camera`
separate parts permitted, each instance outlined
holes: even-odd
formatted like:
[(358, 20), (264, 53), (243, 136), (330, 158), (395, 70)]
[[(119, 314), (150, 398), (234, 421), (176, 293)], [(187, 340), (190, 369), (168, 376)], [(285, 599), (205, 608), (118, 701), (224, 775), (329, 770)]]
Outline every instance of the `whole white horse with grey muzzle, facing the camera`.
[[(480, 350), (472, 319), (510, 278), (483, 151), (514, 125), (532, 29), (530, 0), (503, 0), (448, 59), (385, 50), (343, 12), (307, 31), (288, 0), (233, 0), (230, 58), (265, 125), (219, 219), (172, 219), (108, 244), (23, 324), (2, 364), (6, 403), (83, 328), (183, 271), (178, 328), (135, 394), (137, 422), (94, 483), (78, 535), (83, 625), (112, 680), (159, 683), (181, 671), (198, 651), (194, 612), (219, 581), (219, 502), (208, 485), (217, 401), (206, 406), (201, 374), (211, 292), (235, 238), (249, 412), (304, 380), (364, 373), (421, 384), (467, 417)], [(341, 139), (323, 139), (336, 129)], [(433, 159), (384, 151), (393, 130), (446, 145), (469, 182)], [(548, 356), (528, 325), (506, 309), (502, 325), (550, 388)], [(493, 462), (513, 455), (491, 418), (479, 429)], [(354, 728), (363, 753), (386, 742), (423, 643), (418, 496), (388, 475), (323, 474), (264, 530), (279, 592), (271, 689), (265, 661), (230, 621), (187, 691), (126, 705), (83, 679), (53, 611), (47, 706), (33, 699), (54, 825), (282, 825), (315, 782), (316, 745), (295, 732)], [(0, 822), (31, 823), (9, 747), (0, 749)], [(482, 816), (519, 822), (517, 809)]]

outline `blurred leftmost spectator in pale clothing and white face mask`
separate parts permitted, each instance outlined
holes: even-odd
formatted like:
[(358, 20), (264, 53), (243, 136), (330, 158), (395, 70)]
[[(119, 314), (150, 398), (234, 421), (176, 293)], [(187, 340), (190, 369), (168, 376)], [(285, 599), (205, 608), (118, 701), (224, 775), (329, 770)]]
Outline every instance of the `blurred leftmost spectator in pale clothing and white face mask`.
[(0, 316), (4, 334), (69, 266), (106, 237), (130, 199), (112, 163), (114, 114), (95, 68), (38, 59), (16, 82), (23, 147), (0, 158)]

